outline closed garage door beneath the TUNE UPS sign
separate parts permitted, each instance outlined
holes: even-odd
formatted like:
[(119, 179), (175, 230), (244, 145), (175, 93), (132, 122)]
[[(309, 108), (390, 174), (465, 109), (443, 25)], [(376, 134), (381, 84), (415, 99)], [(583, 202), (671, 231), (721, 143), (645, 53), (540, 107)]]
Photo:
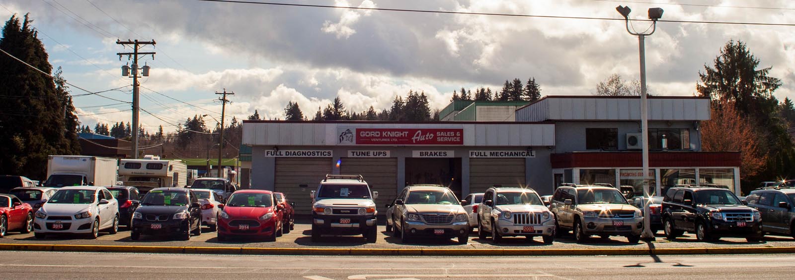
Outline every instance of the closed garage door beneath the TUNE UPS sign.
[(384, 205), (394, 201), (397, 195), (397, 159), (394, 158), (342, 158), (339, 174), (362, 175), (370, 190), (378, 192), (375, 208), (386, 213)]

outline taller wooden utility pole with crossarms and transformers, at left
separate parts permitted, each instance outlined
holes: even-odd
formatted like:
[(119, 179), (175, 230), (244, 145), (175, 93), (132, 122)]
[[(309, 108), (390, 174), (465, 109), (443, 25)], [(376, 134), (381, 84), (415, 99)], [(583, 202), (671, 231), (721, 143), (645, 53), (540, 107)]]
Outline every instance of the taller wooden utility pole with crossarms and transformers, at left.
[[(130, 44), (130, 45), (132, 45), (132, 48), (133, 48), (133, 52), (118, 52), (118, 53), (116, 53), (116, 55), (118, 55), (118, 60), (122, 60), (122, 56), (127, 56), (128, 60), (129, 59), (133, 59), (133, 65), (132, 66), (127, 66), (127, 65), (122, 66), (122, 76), (128, 76), (129, 77), (130, 75), (132, 75), (132, 78), (133, 78), (133, 125), (132, 125), (132, 130), (133, 130), (132, 131), (132, 133), (133, 133), (133, 159), (138, 159), (138, 138), (139, 138), (138, 137), (138, 127), (139, 127), (139, 124), (138, 124), (138, 109), (140, 108), (138, 106), (138, 86), (141, 86), (138, 83), (138, 70), (139, 69), (143, 70), (142, 71), (143, 72), (142, 73), (143, 76), (145, 76), (145, 77), (149, 76), (149, 66), (144, 66), (142, 68), (138, 68), (138, 56), (149, 56), (149, 55), (151, 55), (152, 59), (154, 59), (154, 54), (155, 54), (154, 52), (138, 52), (138, 50), (141, 49), (141, 47), (143, 45), (147, 45), (147, 44), (154, 45), (156, 43), (155, 43), (154, 40), (150, 40), (150, 41), (138, 41), (138, 40), (122, 41), (122, 40), (116, 40), (116, 44), (121, 44), (123, 46), (126, 46), (126, 45)], [(132, 70), (132, 71), (130, 71), (130, 70)]]

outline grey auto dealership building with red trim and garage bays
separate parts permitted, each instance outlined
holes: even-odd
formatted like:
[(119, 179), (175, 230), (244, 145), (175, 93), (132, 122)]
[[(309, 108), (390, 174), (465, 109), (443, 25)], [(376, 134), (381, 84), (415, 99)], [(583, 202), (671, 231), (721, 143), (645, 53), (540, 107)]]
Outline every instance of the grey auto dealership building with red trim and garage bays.
[[(441, 116), (450, 121), (440, 122), (243, 121), (242, 143), (252, 148), (251, 188), (283, 192), (301, 213), (326, 174), (363, 175), (379, 192), (378, 205), (419, 183), (449, 186), (460, 198), (494, 185), (552, 194), (567, 182), (641, 193), (639, 111), (638, 97), (453, 102)], [(494, 121), (505, 119), (515, 121)], [(677, 184), (739, 194), (739, 152), (701, 152), (699, 125), (708, 119), (707, 98), (649, 98), (649, 177), (657, 194)]]

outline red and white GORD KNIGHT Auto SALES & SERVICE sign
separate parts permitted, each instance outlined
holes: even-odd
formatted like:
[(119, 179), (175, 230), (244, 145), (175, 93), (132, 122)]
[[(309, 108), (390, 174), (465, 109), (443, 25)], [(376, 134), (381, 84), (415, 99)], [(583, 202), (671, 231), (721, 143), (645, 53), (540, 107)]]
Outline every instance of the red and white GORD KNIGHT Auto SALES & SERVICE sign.
[(463, 145), (463, 128), (338, 128), (343, 145)]

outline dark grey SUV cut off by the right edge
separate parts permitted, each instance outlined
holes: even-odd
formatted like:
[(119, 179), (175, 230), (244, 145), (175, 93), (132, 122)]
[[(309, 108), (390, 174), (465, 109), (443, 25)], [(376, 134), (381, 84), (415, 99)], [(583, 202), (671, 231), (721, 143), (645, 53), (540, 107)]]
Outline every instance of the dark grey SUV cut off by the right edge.
[(795, 238), (795, 189), (754, 190), (748, 206), (762, 214), (762, 231)]

